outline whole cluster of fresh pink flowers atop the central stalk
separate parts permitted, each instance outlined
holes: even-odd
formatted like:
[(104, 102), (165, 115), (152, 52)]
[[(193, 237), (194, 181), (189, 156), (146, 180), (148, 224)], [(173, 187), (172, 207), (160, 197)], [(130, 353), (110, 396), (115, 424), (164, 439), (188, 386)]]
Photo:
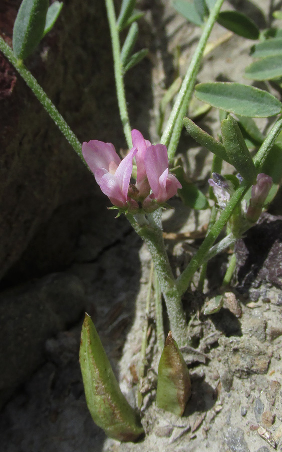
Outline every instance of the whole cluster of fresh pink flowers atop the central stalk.
[[(168, 172), (167, 149), (151, 145), (138, 130), (131, 132), (133, 148), (121, 160), (111, 143), (92, 140), (83, 143), (83, 157), (112, 204), (124, 211), (152, 212), (181, 188)], [(133, 158), (137, 166), (136, 183), (130, 183)]]

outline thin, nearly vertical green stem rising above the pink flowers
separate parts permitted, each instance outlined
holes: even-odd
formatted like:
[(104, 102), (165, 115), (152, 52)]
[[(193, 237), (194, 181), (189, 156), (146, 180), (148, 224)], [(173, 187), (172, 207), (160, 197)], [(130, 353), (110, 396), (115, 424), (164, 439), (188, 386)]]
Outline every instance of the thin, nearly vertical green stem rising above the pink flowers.
[(109, 21), (109, 26), (110, 26), (111, 40), (112, 40), (114, 71), (115, 71), (116, 90), (117, 90), (120, 118), (121, 118), (121, 122), (122, 122), (122, 126), (123, 126), (124, 135), (126, 138), (126, 142), (130, 149), (130, 148), (132, 148), (131, 127), (130, 127), (130, 123), (129, 123), (129, 116), (128, 116), (126, 99), (125, 99), (119, 31), (118, 31), (118, 26), (117, 26), (117, 20), (116, 20), (116, 14), (115, 14), (113, 0), (106, 0), (106, 8), (107, 8), (107, 15), (108, 15), (108, 21)]

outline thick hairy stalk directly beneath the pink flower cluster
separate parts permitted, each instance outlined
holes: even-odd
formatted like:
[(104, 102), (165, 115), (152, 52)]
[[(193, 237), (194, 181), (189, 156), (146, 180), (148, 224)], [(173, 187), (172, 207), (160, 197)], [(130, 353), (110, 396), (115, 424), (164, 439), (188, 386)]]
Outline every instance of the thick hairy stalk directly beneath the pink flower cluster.
[(182, 347), (187, 345), (188, 331), (181, 297), (167, 257), (162, 230), (154, 221), (154, 214), (148, 217), (150, 222), (146, 221), (145, 215), (138, 221), (133, 215), (127, 215), (132, 227), (149, 248), (166, 303), (170, 328), (177, 344)]

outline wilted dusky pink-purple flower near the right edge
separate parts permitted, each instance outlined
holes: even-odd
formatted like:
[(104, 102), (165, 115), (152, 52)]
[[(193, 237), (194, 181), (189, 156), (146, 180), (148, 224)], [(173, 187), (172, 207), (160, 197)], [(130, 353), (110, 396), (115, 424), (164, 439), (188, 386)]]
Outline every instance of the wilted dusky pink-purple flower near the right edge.
[(256, 184), (251, 187), (249, 206), (245, 213), (248, 221), (255, 222), (258, 220), (271, 186), (272, 177), (264, 173), (257, 175)]

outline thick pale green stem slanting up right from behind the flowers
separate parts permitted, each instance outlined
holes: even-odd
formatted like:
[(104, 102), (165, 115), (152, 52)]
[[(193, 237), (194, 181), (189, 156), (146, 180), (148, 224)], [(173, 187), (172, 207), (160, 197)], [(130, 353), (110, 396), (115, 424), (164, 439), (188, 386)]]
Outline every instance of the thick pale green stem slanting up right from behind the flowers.
[(173, 159), (175, 149), (179, 141), (179, 136), (182, 130), (182, 120), (185, 116), (188, 103), (194, 90), (196, 76), (199, 71), (203, 52), (223, 1), (224, 0), (217, 0), (211, 10), (161, 138), (162, 144), (165, 146), (168, 146), (169, 144), (168, 157), (170, 161)]

